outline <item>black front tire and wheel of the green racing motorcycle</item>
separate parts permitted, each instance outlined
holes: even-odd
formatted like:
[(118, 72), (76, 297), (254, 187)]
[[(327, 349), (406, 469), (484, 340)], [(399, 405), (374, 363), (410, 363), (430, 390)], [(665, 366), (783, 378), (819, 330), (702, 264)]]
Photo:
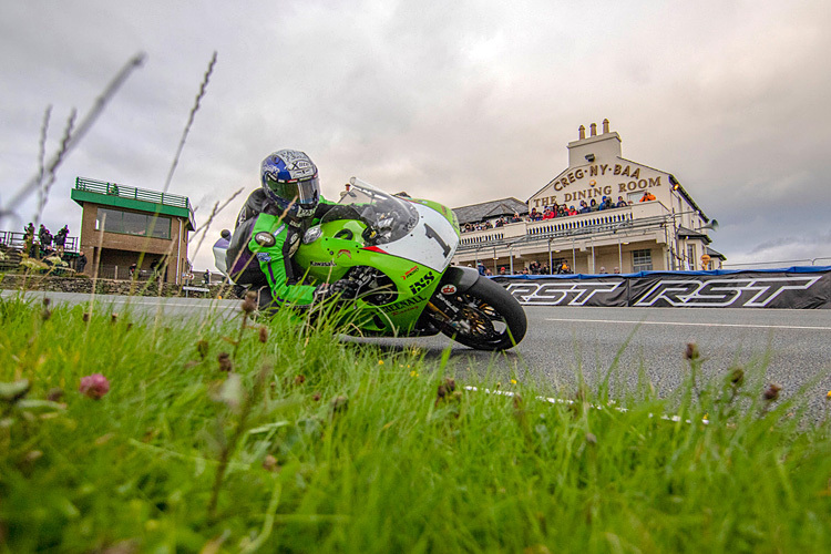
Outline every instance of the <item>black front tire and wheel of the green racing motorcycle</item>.
[(525, 310), (504, 287), (486, 277), (476, 279), (464, 293), (443, 295), (443, 300), (456, 315), (451, 321), (433, 317), (433, 325), (456, 342), (478, 350), (507, 350), (525, 337)]

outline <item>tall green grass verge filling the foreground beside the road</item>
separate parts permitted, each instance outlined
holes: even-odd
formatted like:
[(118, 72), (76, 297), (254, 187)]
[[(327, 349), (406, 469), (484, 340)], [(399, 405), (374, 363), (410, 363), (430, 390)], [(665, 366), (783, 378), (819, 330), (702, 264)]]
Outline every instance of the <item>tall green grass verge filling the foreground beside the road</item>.
[[(626, 411), (587, 388), (562, 403), (533, 384), (464, 390), (496, 383), (325, 321), (95, 312), (0, 301), (1, 552), (820, 552), (831, 540), (825, 429), (800, 427), (750, 379), (695, 393), (688, 379), (673, 422), (648, 389)], [(100, 400), (79, 392), (92, 373), (110, 382)]]

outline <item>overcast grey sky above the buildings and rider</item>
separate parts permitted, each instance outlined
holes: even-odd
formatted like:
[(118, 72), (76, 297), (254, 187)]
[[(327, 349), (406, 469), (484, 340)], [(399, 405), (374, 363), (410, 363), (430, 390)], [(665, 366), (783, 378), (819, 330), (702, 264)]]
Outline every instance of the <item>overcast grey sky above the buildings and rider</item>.
[[(831, 257), (831, 2), (0, 1), (0, 205), (119, 70), (135, 70), (57, 173), (43, 223), (76, 235), (76, 176), (170, 192), (204, 223), (290, 147), (324, 195), (351, 175), (452, 207), (526, 201), (611, 121), (624, 157), (670, 172), (729, 264)], [(21, 230), (37, 195), (4, 228)], [(211, 243), (215, 237), (211, 237)], [(209, 247), (193, 256), (213, 269)], [(831, 258), (824, 260), (831, 264)], [(818, 263), (821, 263), (818, 261)]]

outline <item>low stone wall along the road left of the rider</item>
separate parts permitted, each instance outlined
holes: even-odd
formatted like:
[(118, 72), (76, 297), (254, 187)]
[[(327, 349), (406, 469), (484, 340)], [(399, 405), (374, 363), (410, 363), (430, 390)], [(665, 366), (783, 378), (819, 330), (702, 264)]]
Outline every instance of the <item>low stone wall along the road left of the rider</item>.
[[(93, 280), (85, 276), (78, 277), (52, 277), (42, 275), (20, 275), (20, 274), (7, 274), (0, 275), (0, 289), (8, 290), (49, 290), (54, 293), (92, 293)], [(211, 293), (196, 293), (187, 291), (187, 296), (192, 298), (215, 298), (217, 295), (223, 297), (232, 296), (232, 293), (227, 290), (227, 286), (223, 285), (209, 285), (205, 287), (203, 284), (195, 285), (199, 288), (208, 288)], [(96, 295), (132, 295), (132, 296), (185, 296), (182, 290), (182, 285), (174, 285), (170, 283), (162, 284), (161, 288), (158, 283), (148, 284), (147, 281), (130, 281), (130, 280), (113, 280), (113, 279), (98, 279), (95, 281), (95, 294)]]

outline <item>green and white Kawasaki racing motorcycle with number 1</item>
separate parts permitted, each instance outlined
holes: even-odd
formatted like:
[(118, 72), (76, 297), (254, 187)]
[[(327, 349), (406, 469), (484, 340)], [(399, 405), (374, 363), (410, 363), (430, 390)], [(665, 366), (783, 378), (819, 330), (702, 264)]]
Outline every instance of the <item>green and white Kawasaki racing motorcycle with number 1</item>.
[(450, 265), (460, 240), (452, 209), (393, 196), (356, 177), (349, 183), (339, 203), (306, 230), (293, 257), (305, 283), (357, 285), (356, 298), (338, 314), (351, 324), (345, 332), (441, 332), (479, 350), (520, 343), (527, 320), (516, 299), (478, 270)]

